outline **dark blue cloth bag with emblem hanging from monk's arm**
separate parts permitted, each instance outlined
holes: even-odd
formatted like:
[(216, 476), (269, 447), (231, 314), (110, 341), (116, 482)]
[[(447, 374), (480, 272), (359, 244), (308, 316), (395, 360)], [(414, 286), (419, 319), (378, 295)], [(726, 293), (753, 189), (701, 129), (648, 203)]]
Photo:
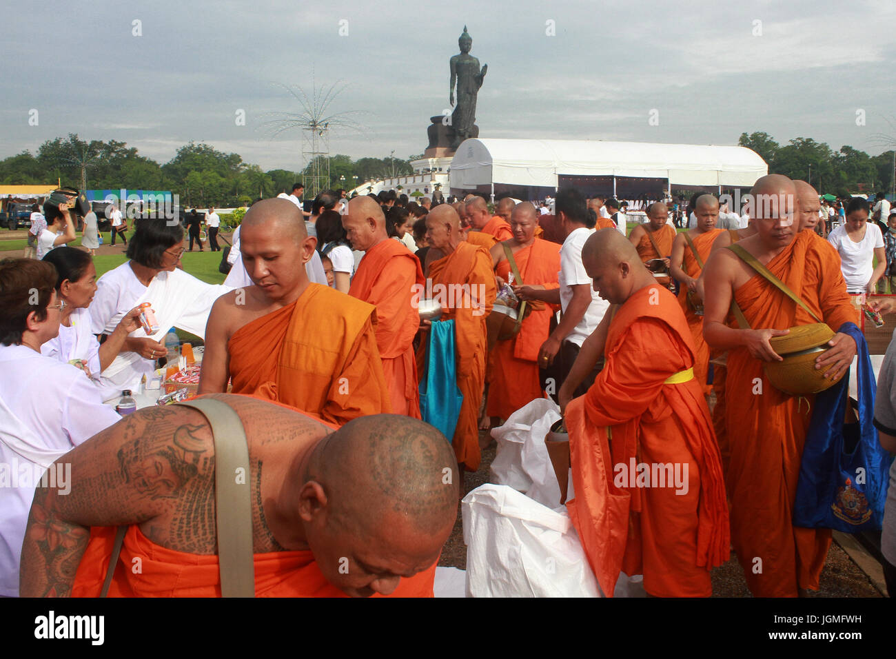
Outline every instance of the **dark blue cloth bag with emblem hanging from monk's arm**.
[(849, 377), (815, 396), (799, 467), (793, 523), (844, 533), (880, 530), (890, 458), (874, 428), (874, 370), (858, 327), (845, 323), (839, 331), (853, 337), (858, 349), (858, 423), (843, 422)]

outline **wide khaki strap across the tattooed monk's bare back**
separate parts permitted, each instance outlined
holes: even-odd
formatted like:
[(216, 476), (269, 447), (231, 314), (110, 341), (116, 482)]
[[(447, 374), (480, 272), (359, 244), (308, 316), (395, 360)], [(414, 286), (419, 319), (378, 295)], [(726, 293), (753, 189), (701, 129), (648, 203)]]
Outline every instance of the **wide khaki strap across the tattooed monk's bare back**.
[(215, 525), (222, 597), (254, 597), (249, 447), (237, 412), (214, 398), (178, 403), (205, 415), (215, 442)]

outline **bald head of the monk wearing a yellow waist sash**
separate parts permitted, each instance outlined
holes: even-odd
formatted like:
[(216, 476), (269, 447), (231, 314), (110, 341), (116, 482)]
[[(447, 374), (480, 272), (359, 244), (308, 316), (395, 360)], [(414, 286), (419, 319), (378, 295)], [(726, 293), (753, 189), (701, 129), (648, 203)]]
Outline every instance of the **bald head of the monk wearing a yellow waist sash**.
[(646, 286), (662, 288), (642, 264), (631, 241), (616, 229), (591, 234), (582, 247), (582, 264), (594, 290), (611, 304), (624, 304)]

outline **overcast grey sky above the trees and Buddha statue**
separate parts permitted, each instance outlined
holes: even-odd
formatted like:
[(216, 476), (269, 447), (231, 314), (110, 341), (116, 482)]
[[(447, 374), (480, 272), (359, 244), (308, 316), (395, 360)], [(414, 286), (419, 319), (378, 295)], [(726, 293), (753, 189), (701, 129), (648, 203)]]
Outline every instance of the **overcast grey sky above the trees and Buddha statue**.
[(875, 154), (886, 150), (879, 134), (896, 142), (894, 19), (892, 0), (7, 6), (0, 158), (77, 133), (162, 163), (194, 140), (300, 169), (301, 133), (271, 138), (264, 125), (302, 109), (278, 85), (314, 96), (340, 81), (327, 114), (360, 113), (348, 118), (363, 131), (332, 131), (330, 152), (407, 157), (449, 108), (448, 60), (465, 23), (488, 65), (482, 137), (736, 144), (762, 130)]

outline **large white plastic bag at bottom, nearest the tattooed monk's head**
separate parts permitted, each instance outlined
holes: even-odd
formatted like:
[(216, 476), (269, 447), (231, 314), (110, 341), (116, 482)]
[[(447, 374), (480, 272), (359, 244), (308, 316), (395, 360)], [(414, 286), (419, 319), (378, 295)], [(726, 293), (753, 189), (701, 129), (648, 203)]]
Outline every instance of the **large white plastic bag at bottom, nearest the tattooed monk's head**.
[(468, 597), (600, 596), (565, 507), (492, 483), (461, 503)]

